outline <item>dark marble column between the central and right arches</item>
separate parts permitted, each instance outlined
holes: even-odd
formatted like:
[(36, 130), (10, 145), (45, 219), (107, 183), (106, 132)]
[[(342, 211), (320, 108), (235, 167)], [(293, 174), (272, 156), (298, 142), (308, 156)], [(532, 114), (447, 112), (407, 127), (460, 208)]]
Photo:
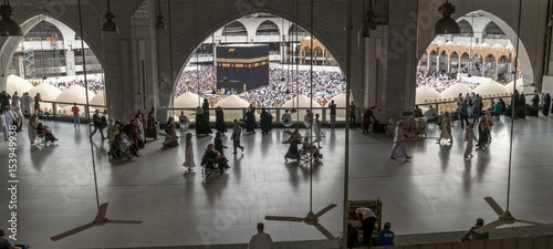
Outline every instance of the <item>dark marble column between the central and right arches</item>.
[[(389, 7), (388, 25), (379, 25), (379, 35), (365, 39), (368, 62), (368, 104), (378, 106), (378, 120), (389, 121), (410, 112), (415, 105), (417, 56), (415, 23), (406, 20), (417, 17), (417, 1), (398, 0), (403, 8)], [(367, 44), (368, 42), (368, 44)], [(438, 59), (439, 60), (439, 59)]]

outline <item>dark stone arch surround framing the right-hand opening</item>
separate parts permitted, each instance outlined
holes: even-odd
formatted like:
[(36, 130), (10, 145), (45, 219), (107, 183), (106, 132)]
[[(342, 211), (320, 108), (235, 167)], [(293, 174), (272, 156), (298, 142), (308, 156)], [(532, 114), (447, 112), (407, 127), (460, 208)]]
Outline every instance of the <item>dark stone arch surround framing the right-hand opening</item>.
[[(418, 56), (430, 44), (434, 24), (441, 18), (438, 12), (438, 7), (441, 3), (434, 0), (419, 1)], [(518, 28), (519, 0), (503, 0), (501, 4), (498, 4), (497, 1), (453, 1), (452, 4), (456, 7), (456, 13), (451, 18), (457, 19), (466, 13), (476, 11), (498, 24), (513, 45), (517, 44), (517, 39), (519, 38), (519, 61), (524, 83), (535, 83), (536, 87), (541, 89), (545, 32), (540, 31), (545, 30), (547, 23), (546, 20), (543, 20), (547, 11), (546, 1), (526, 1), (522, 4), (522, 21), (519, 34), (515, 32)], [(474, 28), (474, 32), (477, 30)]]

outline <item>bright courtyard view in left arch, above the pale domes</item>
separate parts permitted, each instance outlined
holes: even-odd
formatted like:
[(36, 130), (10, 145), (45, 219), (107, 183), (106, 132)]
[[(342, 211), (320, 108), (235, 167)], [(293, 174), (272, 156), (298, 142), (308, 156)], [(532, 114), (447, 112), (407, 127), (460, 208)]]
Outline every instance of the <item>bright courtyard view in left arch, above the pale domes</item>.
[(63, 91), (73, 84), (84, 85), (84, 53), (88, 89), (96, 93), (103, 91), (103, 69), (87, 43), (82, 48), (81, 37), (60, 20), (45, 15), (38, 18), (15, 45), (9, 71), (30, 81), (44, 81), (45, 77), (49, 84)]

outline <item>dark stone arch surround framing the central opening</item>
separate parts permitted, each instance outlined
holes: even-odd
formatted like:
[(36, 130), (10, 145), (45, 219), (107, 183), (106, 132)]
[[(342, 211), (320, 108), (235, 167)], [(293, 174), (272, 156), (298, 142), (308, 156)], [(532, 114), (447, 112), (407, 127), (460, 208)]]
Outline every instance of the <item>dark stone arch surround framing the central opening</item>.
[[(178, 46), (181, 49), (177, 52), (174, 50), (174, 55), (173, 55), (173, 61), (174, 61), (173, 75), (174, 75), (174, 77), (173, 77), (171, 85), (168, 87), (171, 90), (171, 92), (170, 93), (161, 93), (160, 100), (159, 100), (161, 105), (169, 106), (169, 103), (171, 102), (171, 100), (174, 97), (173, 92), (176, 87), (176, 84), (178, 83), (178, 79), (180, 77), (182, 69), (184, 69), (184, 66), (186, 66), (188, 61), (191, 59), (194, 51), (201, 43), (201, 41), (205, 41), (213, 32), (216, 32), (217, 30), (219, 30), (221, 27), (226, 25), (227, 23), (230, 23), (230, 22), (238, 20), (242, 17), (251, 14), (250, 13), (251, 9), (247, 9), (246, 11), (243, 11), (242, 9), (237, 8), (233, 4), (233, 2), (231, 2), (231, 3), (226, 3), (226, 2), (222, 3), (221, 2), (218, 4), (210, 4), (210, 2), (208, 2), (208, 1), (206, 1), (206, 2), (198, 1), (196, 3), (195, 2), (177, 2), (175, 4), (171, 3), (171, 11), (179, 10), (179, 9), (180, 10), (188, 9), (188, 10), (191, 10), (191, 12), (194, 13), (195, 6), (198, 9), (202, 9), (207, 12), (209, 12), (210, 9), (212, 10), (212, 14), (204, 14), (200, 19), (198, 19), (198, 21), (196, 22), (198, 24), (198, 27), (194, 25), (194, 23), (195, 23), (194, 15), (187, 17), (188, 19), (186, 22), (184, 20), (182, 20), (182, 22), (180, 22), (179, 19), (185, 18), (184, 14), (178, 15), (178, 14), (175, 14), (171, 12), (173, 17), (177, 17), (177, 18), (171, 20), (173, 22), (184, 23), (182, 25), (179, 27), (178, 30), (175, 29), (171, 31), (173, 37), (174, 37), (174, 43), (176, 43), (175, 37), (184, 38), (184, 37), (186, 37), (186, 34), (188, 34), (188, 38), (190, 38), (190, 34), (192, 37), (191, 37), (191, 39), (188, 39), (186, 41), (178, 41), (177, 42)], [(263, 6), (262, 8), (257, 8), (255, 10), (259, 12), (263, 12), (263, 13), (271, 13), (272, 15), (276, 15), (276, 17), (283, 18), (283, 19), (289, 20), (289, 21), (291, 21), (291, 20), (295, 21), (295, 17), (292, 17), (289, 13), (289, 7), (288, 7), (286, 2), (268, 1), (265, 6)], [(310, 30), (311, 30), (310, 29), (310, 17), (311, 15), (310, 15), (309, 10), (310, 10), (309, 4), (301, 4), (300, 6), (300, 12), (302, 12), (303, 14), (301, 14), (298, 18), (298, 23), (296, 23), (298, 25), (305, 29), (307, 32), (310, 32)], [(331, 1), (316, 2), (314, 4), (314, 11), (315, 12), (317, 12), (317, 11), (320, 11), (320, 12), (335, 12), (332, 14), (341, 15), (342, 13), (345, 12), (345, 4), (342, 2), (331, 2)], [(334, 58), (335, 58), (337, 64), (340, 65), (340, 68), (342, 69), (342, 71), (344, 70), (344, 66), (345, 66), (345, 49), (344, 49), (345, 35), (335, 35), (335, 34), (344, 32), (343, 24), (344, 23), (341, 23), (340, 21), (336, 21), (336, 20), (330, 20), (330, 19), (321, 17), (321, 15), (315, 15), (314, 28), (313, 28), (313, 35), (315, 38), (317, 38), (321, 41), (321, 43), (323, 43), (325, 45), (327, 51), (334, 55)], [(282, 29), (280, 29), (280, 30), (282, 32)], [(196, 33), (197, 33), (197, 37), (196, 37)], [(332, 34), (332, 35), (330, 35), (330, 34)], [(159, 44), (160, 54), (165, 54), (165, 55), (160, 55), (160, 56), (168, 59), (169, 54), (167, 51), (168, 49), (166, 49), (166, 48), (169, 48), (169, 44), (168, 44), (168, 39), (165, 35), (166, 34), (159, 35), (158, 44)], [(173, 44), (173, 46), (176, 48), (176, 44)], [(356, 54), (355, 50), (354, 50), (353, 54)], [(353, 60), (355, 60), (355, 59), (353, 59)], [(159, 64), (160, 79), (170, 79), (170, 71), (167, 70), (167, 69), (169, 69), (168, 64), (169, 64), (169, 60), (165, 60), (165, 62), (160, 61), (160, 64)], [(361, 65), (356, 65), (355, 63), (353, 63), (352, 66), (353, 68), (355, 68), (355, 66), (361, 68)], [(354, 69), (352, 71), (355, 72)], [(361, 71), (358, 71), (358, 72), (361, 72)], [(363, 84), (363, 82), (361, 81), (361, 75), (357, 76), (356, 81), (357, 81), (356, 83), (358, 85)]]

